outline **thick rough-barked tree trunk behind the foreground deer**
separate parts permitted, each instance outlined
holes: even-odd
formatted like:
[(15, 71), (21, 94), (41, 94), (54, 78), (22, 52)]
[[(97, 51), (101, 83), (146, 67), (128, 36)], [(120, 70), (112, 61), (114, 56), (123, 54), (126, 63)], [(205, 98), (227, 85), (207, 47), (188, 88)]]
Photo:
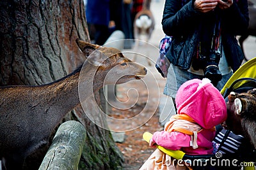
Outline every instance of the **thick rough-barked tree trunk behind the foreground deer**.
[[(1, 0), (0, 86), (42, 85), (72, 72), (84, 62), (76, 38), (90, 41), (83, 0)], [(69, 117), (87, 131), (79, 166), (120, 169), (122, 154), (110, 132), (93, 124), (80, 106)]]

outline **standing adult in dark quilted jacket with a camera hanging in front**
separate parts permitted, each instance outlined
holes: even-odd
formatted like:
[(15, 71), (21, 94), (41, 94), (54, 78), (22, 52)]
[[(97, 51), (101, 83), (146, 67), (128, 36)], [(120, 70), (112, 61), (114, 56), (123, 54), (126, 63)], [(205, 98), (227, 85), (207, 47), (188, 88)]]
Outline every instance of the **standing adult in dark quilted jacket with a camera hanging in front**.
[(243, 61), (236, 36), (248, 22), (247, 0), (166, 0), (162, 25), (172, 36), (166, 53), (172, 67), (164, 94), (175, 99), (182, 83), (204, 77), (221, 90)]

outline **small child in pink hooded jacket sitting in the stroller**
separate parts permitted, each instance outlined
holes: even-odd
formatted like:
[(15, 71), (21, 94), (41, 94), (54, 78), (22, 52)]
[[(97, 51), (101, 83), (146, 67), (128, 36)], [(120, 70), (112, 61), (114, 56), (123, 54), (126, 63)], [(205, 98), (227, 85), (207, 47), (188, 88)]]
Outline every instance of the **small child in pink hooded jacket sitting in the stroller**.
[[(188, 155), (212, 154), (215, 126), (227, 118), (225, 100), (218, 89), (206, 78), (189, 80), (180, 86), (175, 103), (178, 114), (164, 125), (164, 131), (154, 132), (149, 145), (182, 150)], [(172, 158), (156, 149), (140, 169), (186, 168), (173, 166)]]

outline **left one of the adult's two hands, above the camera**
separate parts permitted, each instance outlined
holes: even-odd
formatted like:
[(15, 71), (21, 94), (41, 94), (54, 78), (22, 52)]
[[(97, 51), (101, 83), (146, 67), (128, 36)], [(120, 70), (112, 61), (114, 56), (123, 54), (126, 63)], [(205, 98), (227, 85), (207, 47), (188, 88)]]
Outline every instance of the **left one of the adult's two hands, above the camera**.
[(194, 9), (205, 13), (216, 8), (218, 1), (220, 0), (196, 0), (194, 3)]

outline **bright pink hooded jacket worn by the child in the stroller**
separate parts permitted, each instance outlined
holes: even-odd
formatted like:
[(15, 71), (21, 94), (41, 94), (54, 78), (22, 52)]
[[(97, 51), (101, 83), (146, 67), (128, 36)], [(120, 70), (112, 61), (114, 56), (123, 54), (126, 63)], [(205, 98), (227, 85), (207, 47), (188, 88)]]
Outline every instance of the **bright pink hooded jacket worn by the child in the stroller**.
[(152, 140), (164, 148), (182, 150), (189, 155), (211, 154), (215, 135), (211, 129), (227, 118), (225, 100), (218, 89), (206, 78), (189, 80), (180, 86), (175, 103), (178, 114), (188, 115), (203, 128), (198, 132), (198, 148), (193, 149), (191, 136), (182, 132), (154, 132)]

